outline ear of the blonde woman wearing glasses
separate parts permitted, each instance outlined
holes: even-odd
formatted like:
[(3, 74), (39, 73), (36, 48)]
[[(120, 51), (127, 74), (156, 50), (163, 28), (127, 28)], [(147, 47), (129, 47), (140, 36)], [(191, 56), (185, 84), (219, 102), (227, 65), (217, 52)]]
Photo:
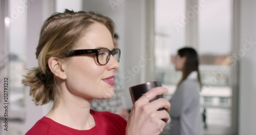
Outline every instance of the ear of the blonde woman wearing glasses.
[(60, 79), (66, 79), (66, 69), (62, 65), (60, 59), (57, 57), (50, 57), (48, 60), (48, 66), (54, 76), (59, 77)]

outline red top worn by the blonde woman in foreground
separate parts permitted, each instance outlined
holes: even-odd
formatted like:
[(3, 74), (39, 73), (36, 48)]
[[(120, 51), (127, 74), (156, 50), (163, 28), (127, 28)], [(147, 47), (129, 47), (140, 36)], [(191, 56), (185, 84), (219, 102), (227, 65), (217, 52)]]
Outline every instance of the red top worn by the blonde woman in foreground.
[(95, 126), (89, 130), (77, 130), (61, 125), (50, 118), (43, 117), (26, 133), (26, 135), (89, 135), (89, 134), (125, 134), (127, 121), (119, 115), (108, 111), (90, 110)]

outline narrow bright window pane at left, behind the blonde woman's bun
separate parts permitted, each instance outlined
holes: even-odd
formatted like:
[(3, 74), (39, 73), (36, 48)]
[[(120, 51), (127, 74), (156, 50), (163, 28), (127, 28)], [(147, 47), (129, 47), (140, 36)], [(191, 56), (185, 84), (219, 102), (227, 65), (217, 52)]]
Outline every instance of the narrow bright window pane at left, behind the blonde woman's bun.
[(25, 111), (25, 87), (22, 85), (22, 78), (26, 64), (27, 7), (24, 6), (26, 2), (9, 1), (8, 74), (10, 89), (12, 89), (10, 93), (10, 109), (14, 111)]

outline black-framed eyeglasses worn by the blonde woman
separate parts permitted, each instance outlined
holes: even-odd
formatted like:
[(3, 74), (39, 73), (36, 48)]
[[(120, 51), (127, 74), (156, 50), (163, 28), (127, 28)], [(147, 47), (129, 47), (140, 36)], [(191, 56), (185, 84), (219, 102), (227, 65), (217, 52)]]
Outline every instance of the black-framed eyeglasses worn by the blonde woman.
[(72, 50), (67, 54), (67, 57), (92, 53), (96, 53), (97, 62), (100, 65), (105, 65), (110, 61), (110, 55), (113, 55), (116, 61), (119, 62), (121, 50), (114, 49), (110, 51), (107, 48)]

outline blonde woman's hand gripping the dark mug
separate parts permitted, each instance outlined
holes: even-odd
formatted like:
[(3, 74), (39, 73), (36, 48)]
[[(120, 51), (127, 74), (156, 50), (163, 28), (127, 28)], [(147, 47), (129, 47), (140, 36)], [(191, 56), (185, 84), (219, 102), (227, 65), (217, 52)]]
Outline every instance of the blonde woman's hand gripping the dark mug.
[[(167, 92), (167, 88), (153, 87), (143, 93), (144, 95), (141, 94), (137, 100), (134, 100), (134, 106), (127, 121), (127, 135), (160, 134), (162, 132), (165, 123), (169, 120), (167, 111), (170, 109), (170, 103), (163, 98), (156, 97), (159, 95), (161, 97)], [(164, 109), (158, 110), (159, 108)]]

